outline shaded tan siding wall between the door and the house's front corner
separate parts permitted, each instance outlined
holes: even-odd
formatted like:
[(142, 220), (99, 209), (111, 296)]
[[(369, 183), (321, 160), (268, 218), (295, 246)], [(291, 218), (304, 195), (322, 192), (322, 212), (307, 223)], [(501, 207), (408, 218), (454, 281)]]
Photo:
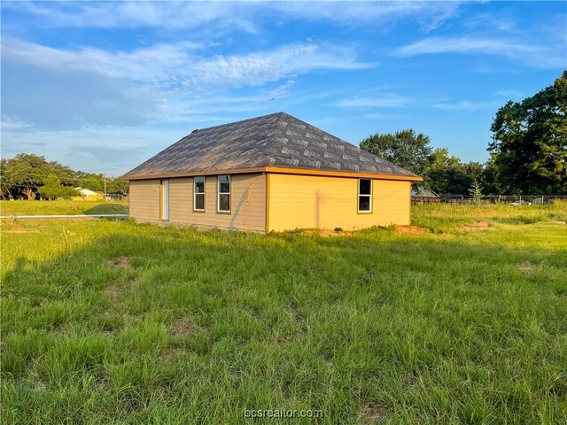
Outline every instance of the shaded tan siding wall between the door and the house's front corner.
[[(249, 189), (251, 198), (246, 204)], [(193, 211), (193, 178), (169, 179), (169, 221), (203, 228), (266, 231), (266, 175), (233, 174), (231, 213), (217, 213), (217, 178), (205, 178), (205, 213)]]

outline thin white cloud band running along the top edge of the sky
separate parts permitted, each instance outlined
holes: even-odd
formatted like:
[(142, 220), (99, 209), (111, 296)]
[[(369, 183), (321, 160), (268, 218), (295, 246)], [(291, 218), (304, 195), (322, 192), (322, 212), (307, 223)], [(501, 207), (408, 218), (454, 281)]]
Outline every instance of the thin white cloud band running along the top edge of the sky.
[(416, 19), (430, 30), (453, 17), (460, 7), (451, 2), (26, 2), (4, 4), (42, 27), (165, 27), (260, 30), (261, 18), (330, 21), (359, 26)]

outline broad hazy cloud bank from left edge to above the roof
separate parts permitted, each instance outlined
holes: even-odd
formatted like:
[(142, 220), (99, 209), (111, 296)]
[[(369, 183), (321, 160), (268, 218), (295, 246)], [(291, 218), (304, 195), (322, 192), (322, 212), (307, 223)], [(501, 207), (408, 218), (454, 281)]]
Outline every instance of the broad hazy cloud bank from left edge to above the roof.
[[(54, 129), (190, 120), (190, 113), (203, 114), (203, 104), (191, 102), (216, 97), (227, 104), (227, 89), (288, 79), (271, 88), (273, 93), (260, 93), (268, 101), (291, 89), (290, 77), (373, 66), (360, 62), (351, 47), (315, 42), (214, 57), (198, 55), (195, 48), (179, 42), (118, 52), (60, 50), (4, 37), (3, 113)], [(179, 110), (181, 117), (175, 115)]]

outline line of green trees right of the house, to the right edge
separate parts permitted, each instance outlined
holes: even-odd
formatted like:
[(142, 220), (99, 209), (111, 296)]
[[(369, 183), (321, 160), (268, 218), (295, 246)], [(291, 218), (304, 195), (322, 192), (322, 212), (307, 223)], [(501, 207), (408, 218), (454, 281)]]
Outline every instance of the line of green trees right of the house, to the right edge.
[(542, 195), (567, 193), (567, 71), (522, 102), (509, 101), (493, 119), (484, 164), (433, 149), (412, 129), (370, 135), (361, 148), (423, 176), (417, 189), (438, 194)]

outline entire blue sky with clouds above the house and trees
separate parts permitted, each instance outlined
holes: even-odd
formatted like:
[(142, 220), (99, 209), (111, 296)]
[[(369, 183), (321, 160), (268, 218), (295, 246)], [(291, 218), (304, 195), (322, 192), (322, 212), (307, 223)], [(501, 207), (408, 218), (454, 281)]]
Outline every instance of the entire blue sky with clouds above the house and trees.
[(495, 112), (567, 68), (566, 2), (10, 2), (1, 153), (120, 175), (195, 128), (287, 112), (413, 128), (484, 162)]

